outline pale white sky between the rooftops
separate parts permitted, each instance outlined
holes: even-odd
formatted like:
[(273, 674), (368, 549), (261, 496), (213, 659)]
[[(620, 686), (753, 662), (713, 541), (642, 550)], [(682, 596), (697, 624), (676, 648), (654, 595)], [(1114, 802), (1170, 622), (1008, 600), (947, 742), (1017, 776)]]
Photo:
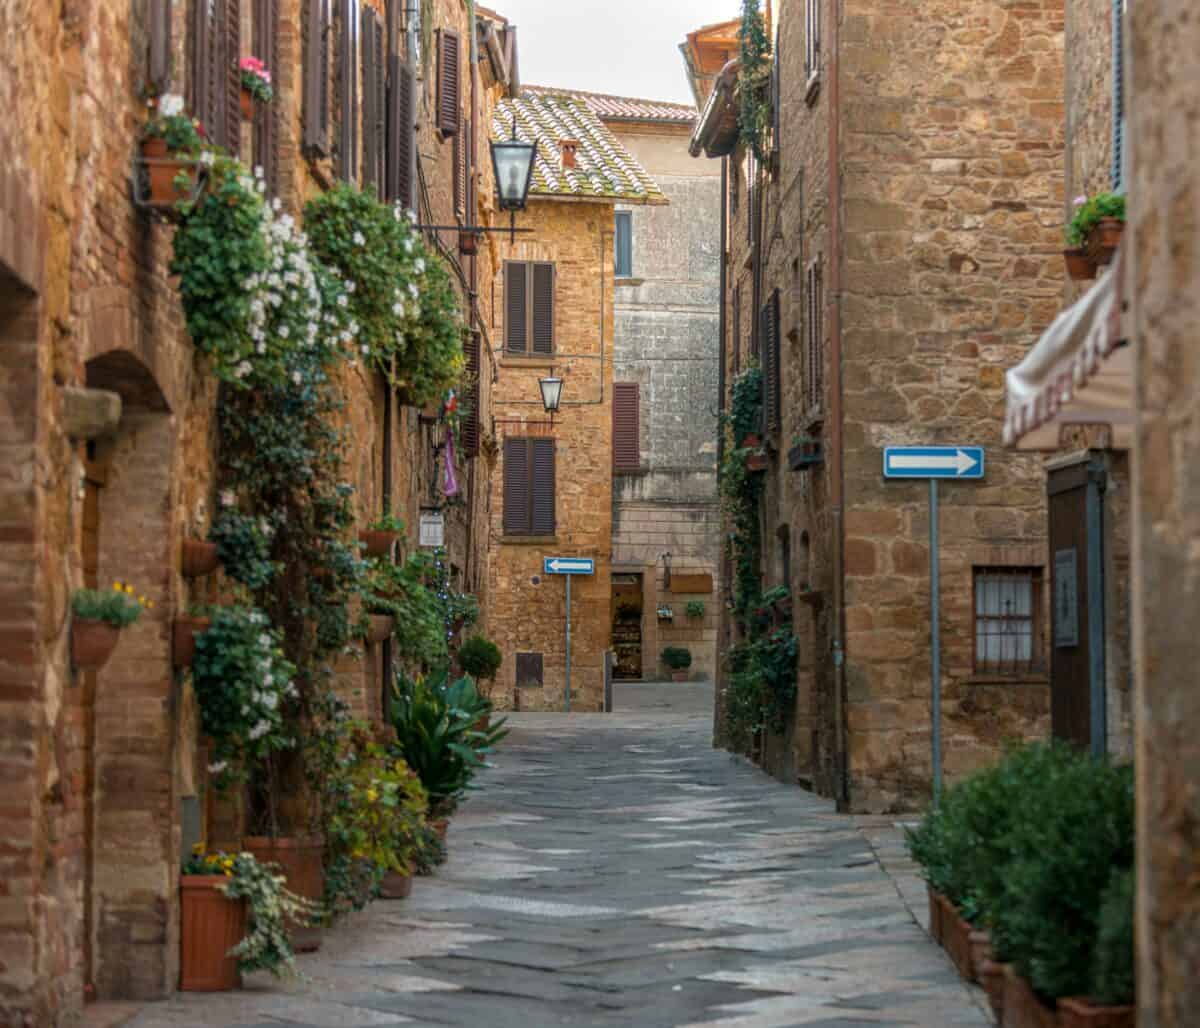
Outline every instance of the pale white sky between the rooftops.
[(521, 80), (692, 103), (679, 43), (738, 0), (482, 0), (517, 26)]

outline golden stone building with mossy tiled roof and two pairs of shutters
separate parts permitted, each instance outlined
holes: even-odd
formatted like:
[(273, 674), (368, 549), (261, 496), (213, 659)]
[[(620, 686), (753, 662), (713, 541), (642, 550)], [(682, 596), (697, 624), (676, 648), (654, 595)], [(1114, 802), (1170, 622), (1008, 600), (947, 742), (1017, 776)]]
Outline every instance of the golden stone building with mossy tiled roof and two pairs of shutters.
[[(487, 633), (505, 655), (493, 698), (566, 707), (565, 576), (547, 557), (583, 557), (571, 581), (570, 709), (604, 707), (612, 573), (613, 212), (662, 204), (655, 181), (575, 96), (504, 103), (497, 138), (539, 145), (529, 206), (502, 239), (492, 345), (498, 467), (492, 481)], [(539, 380), (563, 379), (551, 419)]]

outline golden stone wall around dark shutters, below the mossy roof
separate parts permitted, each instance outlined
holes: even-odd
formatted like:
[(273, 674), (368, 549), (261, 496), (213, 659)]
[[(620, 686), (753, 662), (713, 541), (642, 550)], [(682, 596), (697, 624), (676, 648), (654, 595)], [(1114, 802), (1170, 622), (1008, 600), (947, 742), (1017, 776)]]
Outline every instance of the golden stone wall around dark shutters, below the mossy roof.
[[(554, 347), (548, 357), (511, 356), (500, 306), (490, 324), (499, 362), (492, 390), (497, 444), (550, 432), (538, 379), (557, 368), (564, 379), (556, 440), (556, 531), (504, 535), (503, 458), (492, 475), (490, 605), (486, 632), (504, 663), (493, 698), (522, 710), (562, 710), (566, 665), (563, 576), (542, 571), (544, 557), (590, 557), (595, 573), (571, 584), (571, 709), (604, 703), (604, 653), (610, 639), (612, 555), (612, 203), (530, 198), (515, 244), (500, 236), (504, 259), (556, 265)], [(497, 289), (503, 288), (498, 281)], [(516, 689), (516, 654), (542, 655), (542, 687)]]

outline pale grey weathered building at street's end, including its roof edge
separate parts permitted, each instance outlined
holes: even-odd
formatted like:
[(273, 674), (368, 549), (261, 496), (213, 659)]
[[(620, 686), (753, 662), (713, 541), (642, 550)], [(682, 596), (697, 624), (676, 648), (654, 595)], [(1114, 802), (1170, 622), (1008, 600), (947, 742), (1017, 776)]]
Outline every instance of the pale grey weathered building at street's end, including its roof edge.
[[(661, 677), (661, 650), (676, 645), (691, 653), (691, 678), (712, 679), (720, 609), (720, 169), (688, 155), (695, 108), (569, 95), (593, 110), (668, 200), (622, 203), (614, 215), (613, 431), (630, 439), (613, 440), (614, 675)], [(703, 613), (689, 615), (689, 602)], [(666, 609), (672, 617), (659, 617)]]

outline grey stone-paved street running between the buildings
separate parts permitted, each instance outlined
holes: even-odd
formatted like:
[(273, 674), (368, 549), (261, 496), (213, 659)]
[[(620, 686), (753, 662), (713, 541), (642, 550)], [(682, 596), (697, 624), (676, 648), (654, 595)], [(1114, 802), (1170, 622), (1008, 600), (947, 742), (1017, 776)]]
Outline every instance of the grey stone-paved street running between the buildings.
[(308, 982), (130, 1023), (990, 1023), (878, 862), (894, 830), (713, 751), (709, 704), (704, 686), (625, 686), (614, 715), (512, 719), (449, 862), (302, 957)]

